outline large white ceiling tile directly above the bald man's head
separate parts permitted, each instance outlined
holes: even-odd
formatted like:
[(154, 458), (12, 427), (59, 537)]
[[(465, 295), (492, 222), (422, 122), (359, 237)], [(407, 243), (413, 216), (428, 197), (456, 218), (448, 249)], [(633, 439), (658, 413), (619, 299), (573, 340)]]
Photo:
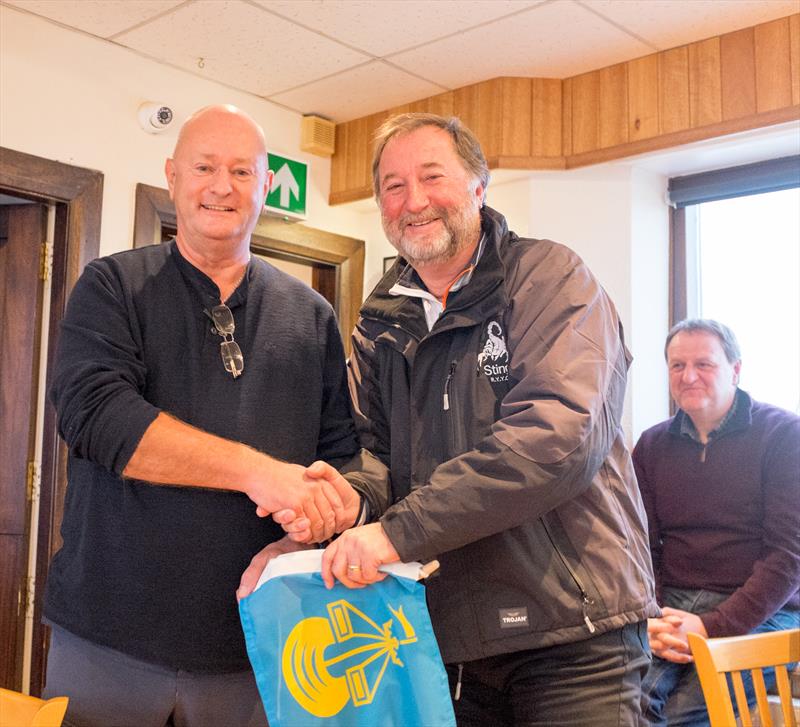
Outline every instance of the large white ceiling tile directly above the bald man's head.
[[(115, 40), (260, 96), (294, 88), (369, 58), (237, 0), (184, 5)], [(202, 69), (199, 58), (203, 59)]]

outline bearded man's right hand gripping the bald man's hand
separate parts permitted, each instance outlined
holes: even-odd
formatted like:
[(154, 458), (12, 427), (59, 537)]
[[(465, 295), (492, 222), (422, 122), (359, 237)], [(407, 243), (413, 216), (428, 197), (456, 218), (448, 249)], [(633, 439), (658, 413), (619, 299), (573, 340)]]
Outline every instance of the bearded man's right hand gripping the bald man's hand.
[[(297, 543), (318, 543), (327, 540), (334, 533), (341, 533), (355, 524), (361, 507), (361, 495), (353, 486), (326, 462), (314, 462), (305, 471), (306, 477), (320, 480), (326, 497), (332, 498), (331, 506), (335, 514), (333, 531), (325, 528), (314, 531), (308, 517), (298, 517), (294, 510), (280, 510), (272, 514), (273, 520), (280, 523), (289, 537)], [(341, 502), (342, 507), (337, 507)]]

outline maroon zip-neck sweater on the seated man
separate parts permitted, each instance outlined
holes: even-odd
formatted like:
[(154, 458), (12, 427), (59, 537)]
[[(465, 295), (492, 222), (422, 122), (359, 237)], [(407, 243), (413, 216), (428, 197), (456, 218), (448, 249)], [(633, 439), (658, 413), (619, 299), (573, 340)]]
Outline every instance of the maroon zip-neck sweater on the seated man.
[(745, 634), (800, 608), (800, 417), (739, 390), (705, 447), (681, 433), (684, 417), (648, 429), (633, 451), (657, 596), (730, 593), (699, 615), (709, 636)]

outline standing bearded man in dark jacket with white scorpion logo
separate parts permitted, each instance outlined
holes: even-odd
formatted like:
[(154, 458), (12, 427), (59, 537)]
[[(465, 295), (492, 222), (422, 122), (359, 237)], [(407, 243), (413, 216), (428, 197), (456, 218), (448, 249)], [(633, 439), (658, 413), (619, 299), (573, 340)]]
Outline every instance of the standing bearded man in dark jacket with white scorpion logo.
[(460, 725), (635, 725), (658, 609), (617, 312), (572, 251), (484, 205), (457, 119), (390, 119), (373, 174), (399, 258), (362, 307), (350, 386), (392, 488), (328, 547), (326, 582), (441, 561), (428, 602)]

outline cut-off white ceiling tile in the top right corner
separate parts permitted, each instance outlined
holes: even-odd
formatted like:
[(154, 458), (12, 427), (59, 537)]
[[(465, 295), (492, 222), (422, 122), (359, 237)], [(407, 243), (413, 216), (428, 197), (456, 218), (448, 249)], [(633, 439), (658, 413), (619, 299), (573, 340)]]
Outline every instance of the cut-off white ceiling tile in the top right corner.
[(758, 25), (800, 10), (798, 0), (584, 0), (659, 50)]

